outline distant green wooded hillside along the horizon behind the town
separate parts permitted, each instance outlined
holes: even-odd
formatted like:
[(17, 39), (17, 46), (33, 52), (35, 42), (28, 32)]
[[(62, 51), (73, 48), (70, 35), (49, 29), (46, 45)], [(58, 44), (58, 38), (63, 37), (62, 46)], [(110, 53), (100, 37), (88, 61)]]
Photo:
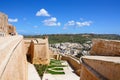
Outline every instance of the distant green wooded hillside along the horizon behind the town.
[(120, 35), (116, 34), (51, 34), (51, 35), (27, 35), (25, 38), (43, 38), (44, 36), (49, 37), (49, 43), (64, 43), (64, 42), (75, 42), (84, 43), (90, 41), (93, 38), (102, 38), (110, 40), (120, 40)]

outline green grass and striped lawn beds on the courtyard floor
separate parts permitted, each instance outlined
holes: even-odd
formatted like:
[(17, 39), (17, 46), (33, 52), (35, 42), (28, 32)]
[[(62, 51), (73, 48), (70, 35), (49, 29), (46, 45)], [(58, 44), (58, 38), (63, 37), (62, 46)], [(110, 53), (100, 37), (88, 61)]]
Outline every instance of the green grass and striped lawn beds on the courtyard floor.
[(63, 67), (66, 67), (66, 65), (62, 65), (63, 61), (51, 59), (50, 65), (39, 65), (34, 64), (39, 76), (43, 77), (44, 73), (50, 73), (50, 74), (65, 74)]

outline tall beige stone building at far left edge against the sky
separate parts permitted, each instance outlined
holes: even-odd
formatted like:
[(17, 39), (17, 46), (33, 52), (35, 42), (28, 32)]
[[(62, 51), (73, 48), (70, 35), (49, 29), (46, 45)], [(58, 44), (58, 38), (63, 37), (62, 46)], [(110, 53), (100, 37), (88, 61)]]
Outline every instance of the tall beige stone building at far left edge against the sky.
[(0, 12), (0, 36), (7, 34), (8, 16)]

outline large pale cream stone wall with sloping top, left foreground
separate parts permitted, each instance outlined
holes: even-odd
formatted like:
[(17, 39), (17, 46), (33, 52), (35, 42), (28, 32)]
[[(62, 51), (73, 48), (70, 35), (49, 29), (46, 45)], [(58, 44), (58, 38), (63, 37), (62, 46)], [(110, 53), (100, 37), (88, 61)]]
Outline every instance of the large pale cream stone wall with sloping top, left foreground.
[(0, 38), (0, 80), (27, 80), (22, 36)]

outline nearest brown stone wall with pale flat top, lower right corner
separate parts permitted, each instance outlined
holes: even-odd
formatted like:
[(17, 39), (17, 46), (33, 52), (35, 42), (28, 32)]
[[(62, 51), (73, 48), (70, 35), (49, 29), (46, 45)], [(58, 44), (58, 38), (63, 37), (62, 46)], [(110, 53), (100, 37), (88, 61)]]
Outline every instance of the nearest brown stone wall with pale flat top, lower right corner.
[(80, 80), (120, 80), (120, 57), (84, 56)]

